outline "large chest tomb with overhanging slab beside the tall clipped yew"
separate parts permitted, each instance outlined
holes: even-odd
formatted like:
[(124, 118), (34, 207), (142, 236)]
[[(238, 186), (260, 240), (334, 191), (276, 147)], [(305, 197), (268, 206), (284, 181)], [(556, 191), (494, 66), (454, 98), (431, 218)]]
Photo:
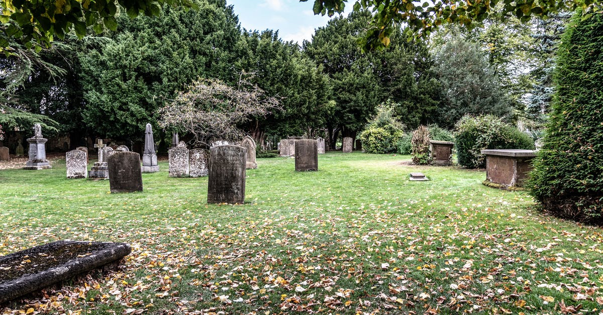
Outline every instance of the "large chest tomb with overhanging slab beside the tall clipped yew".
[[(486, 156), (486, 181), (504, 187), (522, 186), (532, 170), (534, 150), (482, 150)], [(503, 187), (503, 188), (504, 188)]]

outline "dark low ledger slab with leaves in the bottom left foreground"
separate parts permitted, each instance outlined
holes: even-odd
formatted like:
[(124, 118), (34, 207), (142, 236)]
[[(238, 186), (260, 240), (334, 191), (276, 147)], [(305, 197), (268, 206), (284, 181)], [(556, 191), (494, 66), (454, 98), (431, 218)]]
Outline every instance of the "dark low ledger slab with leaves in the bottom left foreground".
[(125, 243), (55, 241), (0, 256), (0, 304), (130, 254)]

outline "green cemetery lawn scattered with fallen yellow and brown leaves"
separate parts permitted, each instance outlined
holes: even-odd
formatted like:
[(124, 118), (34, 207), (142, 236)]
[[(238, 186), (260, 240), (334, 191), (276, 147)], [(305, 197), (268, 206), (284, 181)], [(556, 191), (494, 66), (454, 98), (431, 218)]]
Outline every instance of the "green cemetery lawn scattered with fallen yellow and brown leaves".
[[(0, 306), (3, 314), (600, 313), (601, 228), (541, 215), (484, 171), (408, 156), (258, 159), (244, 205), (207, 205), (207, 177), (143, 174), (144, 191), (51, 170), (0, 171), (0, 255), (56, 240), (132, 253)], [(92, 163), (93, 161), (90, 161)], [(429, 182), (409, 182), (420, 171)], [(0, 270), (1, 272), (1, 270)]]

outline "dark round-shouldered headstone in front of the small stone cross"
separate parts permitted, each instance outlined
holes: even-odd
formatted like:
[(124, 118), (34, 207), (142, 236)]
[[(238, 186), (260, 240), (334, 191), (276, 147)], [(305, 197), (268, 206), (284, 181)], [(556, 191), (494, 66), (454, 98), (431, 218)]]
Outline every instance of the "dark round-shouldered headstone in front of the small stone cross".
[(111, 193), (142, 191), (140, 154), (130, 151), (115, 152), (107, 158)]

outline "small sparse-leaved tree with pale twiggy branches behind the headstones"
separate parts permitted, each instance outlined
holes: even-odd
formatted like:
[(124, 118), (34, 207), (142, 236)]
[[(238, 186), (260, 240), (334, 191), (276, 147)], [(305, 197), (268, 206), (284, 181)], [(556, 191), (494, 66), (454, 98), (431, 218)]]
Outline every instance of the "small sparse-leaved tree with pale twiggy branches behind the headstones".
[(196, 144), (209, 147), (216, 140), (240, 140), (242, 123), (281, 109), (279, 98), (265, 95), (245, 74), (236, 88), (218, 79), (198, 79), (160, 109), (159, 126), (189, 132)]

